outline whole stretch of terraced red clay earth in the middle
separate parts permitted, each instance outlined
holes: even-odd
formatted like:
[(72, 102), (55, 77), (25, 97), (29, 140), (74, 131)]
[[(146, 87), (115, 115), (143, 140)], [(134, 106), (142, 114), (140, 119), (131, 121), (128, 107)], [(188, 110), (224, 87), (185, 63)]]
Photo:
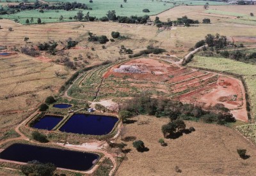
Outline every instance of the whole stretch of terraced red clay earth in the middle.
[[(115, 69), (120, 66), (135, 66), (142, 73), (115, 72)], [(104, 74), (103, 77), (106, 78), (104, 84), (111, 84), (111, 81), (108, 83), (110, 75), (113, 75), (118, 83), (114, 85), (115, 89), (111, 93), (129, 92), (130, 89), (121, 85), (126, 77), (125, 81), (129, 82), (129, 85), (141, 91), (154, 89), (164, 94), (171, 94), (175, 99), (183, 102), (204, 105), (203, 108), (222, 103), (231, 110), (236, 119), (248, 121), (244, 87), (236, 78), (218, 76), (217, 73), (184, 68), (149, 58), (134, 59), (113, 66)], [(144, 83), (141, 84), (141, 81)]]

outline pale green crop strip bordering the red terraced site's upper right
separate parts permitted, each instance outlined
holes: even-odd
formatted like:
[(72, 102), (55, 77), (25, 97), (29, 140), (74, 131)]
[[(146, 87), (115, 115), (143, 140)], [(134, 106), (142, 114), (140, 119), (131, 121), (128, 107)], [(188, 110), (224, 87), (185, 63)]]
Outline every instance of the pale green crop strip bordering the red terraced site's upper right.
[(216, 58), (216, 57), (202, 57), (195, 56), (193, 62), (188, 66), (196, 68), (206, 68), (217, 71), (226, 71), (229, 73), (235, 73), (243, 75), (246, 85), (248, 87), (248, 94), (250, 96), (251, 109), (253, 118), (256, 114), (256, 66), (252, 64), (246, 64), (244, 62), (238, 62), (231, 59)]

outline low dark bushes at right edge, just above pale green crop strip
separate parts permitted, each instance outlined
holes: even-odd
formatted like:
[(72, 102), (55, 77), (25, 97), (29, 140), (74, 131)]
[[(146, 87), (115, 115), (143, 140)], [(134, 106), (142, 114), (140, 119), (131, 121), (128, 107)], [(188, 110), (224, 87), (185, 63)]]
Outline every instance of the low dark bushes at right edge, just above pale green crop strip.
[(234, 59), (236, 61), (239, 60), (250, 60), (250, 59), (256, 59), (256, 52), (246, 54), (246, 52), (242, 50), (236, 50), (236, 51), (221, 51), (220, 55), (225, 58)]

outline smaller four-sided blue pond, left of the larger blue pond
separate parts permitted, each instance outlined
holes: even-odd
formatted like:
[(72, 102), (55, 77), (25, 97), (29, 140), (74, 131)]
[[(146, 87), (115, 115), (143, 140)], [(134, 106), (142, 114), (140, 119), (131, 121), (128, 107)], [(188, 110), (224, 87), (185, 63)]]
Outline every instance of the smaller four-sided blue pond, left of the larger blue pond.
[(35, 122), (33, 128), (52, 130), (62, 119), (63, 117), (60, 116), (45, 115), (38, 122)]

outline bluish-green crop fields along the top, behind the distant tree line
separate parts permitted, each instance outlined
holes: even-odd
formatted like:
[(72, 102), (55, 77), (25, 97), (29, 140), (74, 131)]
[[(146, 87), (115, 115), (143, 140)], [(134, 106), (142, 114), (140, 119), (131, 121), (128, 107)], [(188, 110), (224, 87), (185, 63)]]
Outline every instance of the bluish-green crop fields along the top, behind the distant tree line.
[[(5, 0), (4, 0), (5, 1)], [(1, 1), (3, 4), (4, 1)], [(33, 2), (34, 0), (29, 0), (29, 2)], [(15, 2), (13, 0), (13, 2)], [(67, 0), (49, 0), (50, 3), (60, 3), (60, 2), (70, 2)], [(88, 1), (84, 2), (81, 0), (78, 0), (77, 3), (85, 3), (89, 7), (92, 8), (92, 10), (83, 10), (83, 13), (86, 14), (87, 12), (90, 12), (90, 16), (92, 17), (104, 17), (106, 16), (106, 13), (109, 10), (115, 10), (116, 16), (131, 16), (131, 15), (137, 15), (137, 16), (143, 16), (143, 15), (156, 15), (157, 13), (161, 13), (164, 10), (168, 10), (169, 8), (172, 8), (175, 5), (182, 5), (182, 4), (188, 4), (191, 6), (195, 5), (204, 5), (205, 1), (172, 1), (171, 3), (166, 3), (162, 1), (149, 1), (149, 0), (129, 0), (127, 3), (124, 3), (124, 1), (120, 1), (120, 3), (117, 3), (113, 0), (103, 0), (103, 1), (93, 1), (93, 3), (89, 3)], [(175, 3), (175, 4), (173, 4)], [(122, 4), (123, 8), (120, 8), (120, 5)], [(225, 3), (219, 3), (219, 2), (209, 2), (210, 5), (223, 5)], [(0, 3), (1, 6), (1, 3)], [(147, 8), (150, 10), (149, 13), (144, 13), (142, 10)], [(69, 19), (69, 17), (74, 17), (77, 15), (77, 12), (79, 9), (72, 10), (72, 11), (65, 11), (65, 10), (45, 10), (44, 13), (40, 13), (39, 10), (26, 10), (26, 11), (20, 11), (19, 13), (14, 13), (12, 15), (0, 15), (2, 18), (8, 18), (8, 19), (19, 19), (19, 22), (21, 24), (26, 24), (26, 19), (33, 18), (41, 18), (42, 22), (59, 22), (59, 18), (62, 15), (64, 18), (64, 21), (72, 21)], [(36, 20), (34, 20), (34, 23), (36, 23)]]

